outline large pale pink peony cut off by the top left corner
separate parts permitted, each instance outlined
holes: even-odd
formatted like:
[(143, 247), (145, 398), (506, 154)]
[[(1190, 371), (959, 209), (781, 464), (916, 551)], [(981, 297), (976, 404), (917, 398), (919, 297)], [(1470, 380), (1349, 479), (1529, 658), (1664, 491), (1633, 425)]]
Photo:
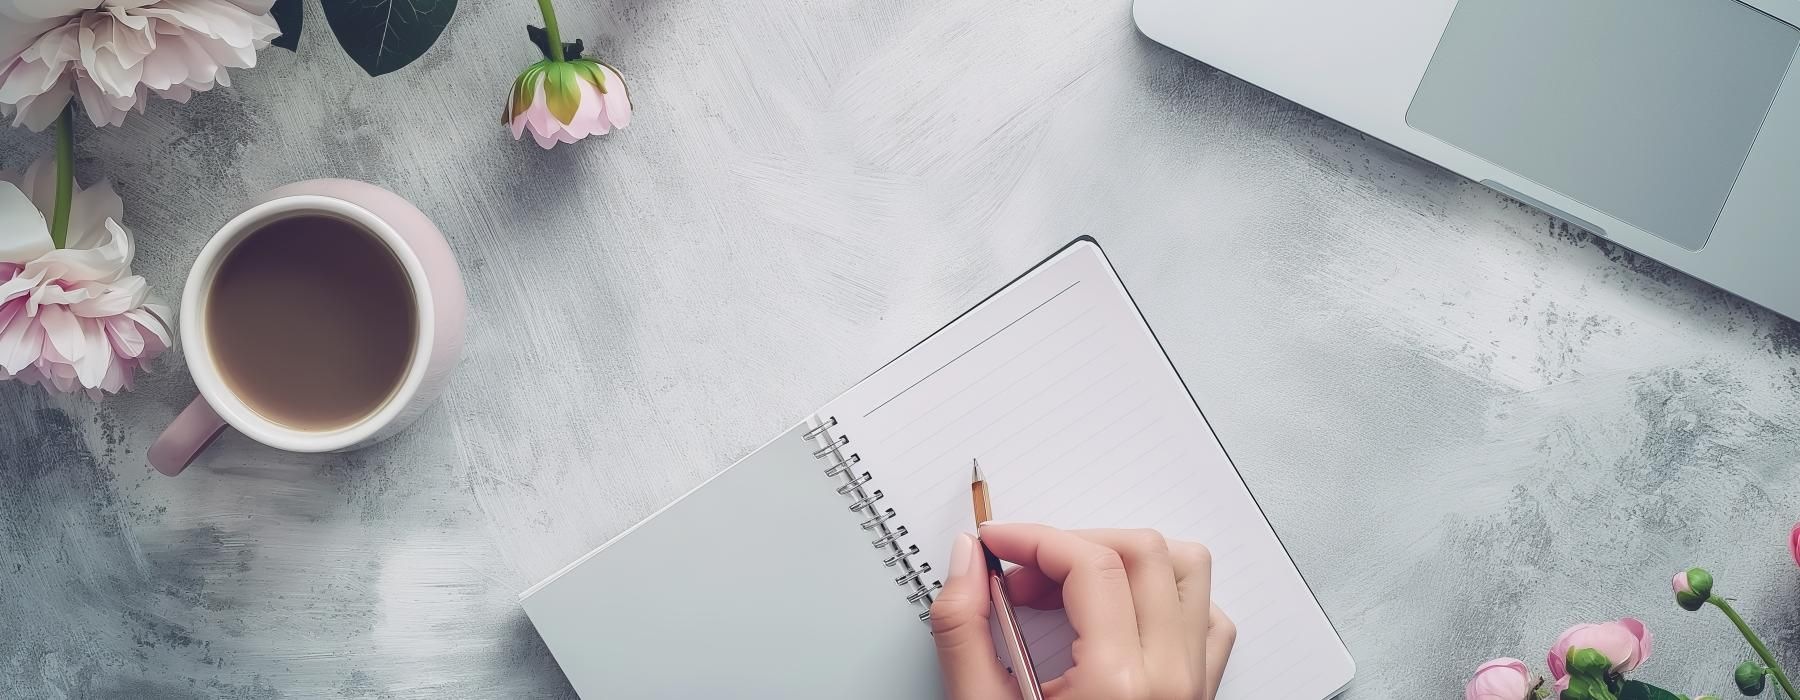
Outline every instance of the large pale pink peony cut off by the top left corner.
[(230, 85), (281, 36), (274, 0), (0, 0), (0, 115), (41, 131), (72, 97), (94, 126)]

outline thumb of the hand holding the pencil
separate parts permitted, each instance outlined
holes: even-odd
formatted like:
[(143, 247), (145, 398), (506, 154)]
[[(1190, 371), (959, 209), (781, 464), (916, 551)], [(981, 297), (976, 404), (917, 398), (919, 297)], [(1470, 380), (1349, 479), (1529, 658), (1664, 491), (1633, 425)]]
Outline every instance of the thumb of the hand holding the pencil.
[(958, 534), (950, 547), (949, 581), (931, 603), (931, 639), (938, 642), (943, 686), (954, 700), (1019, 695), (994, 655), (988, 614), (988, 576), (981, 547), (974, 536)]

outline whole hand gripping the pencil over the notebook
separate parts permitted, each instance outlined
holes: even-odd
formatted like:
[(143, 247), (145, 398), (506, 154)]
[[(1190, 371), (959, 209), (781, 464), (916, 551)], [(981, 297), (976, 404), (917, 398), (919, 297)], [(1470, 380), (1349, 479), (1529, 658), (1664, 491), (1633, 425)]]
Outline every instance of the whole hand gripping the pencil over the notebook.
[[(1062, 608), (1075, 628), (1075, 666), (1044, 682), (1044, 696), (1213, 700), (1237, 628), (1211, 603), (1206, 547), (1148, 529), (1033, 524), (983, 524), (981, 543), (1019, 563), (1006, 576), (1015, 605)], [(931, 606), (945, 687), (956, 700), (1019, 696), (995, 657), (988, 615), (981, 547), (959, 534)]]

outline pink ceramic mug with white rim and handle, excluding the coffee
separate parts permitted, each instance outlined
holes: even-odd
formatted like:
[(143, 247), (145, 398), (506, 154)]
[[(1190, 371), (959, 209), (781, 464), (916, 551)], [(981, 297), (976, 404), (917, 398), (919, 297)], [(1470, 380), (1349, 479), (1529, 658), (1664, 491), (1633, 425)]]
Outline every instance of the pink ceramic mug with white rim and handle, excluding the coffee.
[[(270, 421), (232, 394), (212, 362), (203, 322), (220, 263), (250, 232), (299, 214), (329, 214), (373, 232), (400, 257), (418, 304), (418, 340), (400, 389), (373, 414), (347, 426), (313, 432)], [(182, 473), (207, 444), (232, 426), (288, 452), (344, 452), (374, 444), (410, 425), (443, 390), (463, 353), (463, 275), (437, 227), (398, 194), (355, 180), (306, 180), (277, 187), (207, 241), (182, 293), (182, 346), (200, 398), (149, 446), (149, 464)]]

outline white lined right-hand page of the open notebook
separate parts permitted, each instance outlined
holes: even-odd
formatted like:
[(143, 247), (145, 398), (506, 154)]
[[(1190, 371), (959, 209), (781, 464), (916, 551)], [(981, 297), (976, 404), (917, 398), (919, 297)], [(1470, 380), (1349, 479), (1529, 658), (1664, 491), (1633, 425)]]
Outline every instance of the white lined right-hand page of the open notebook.
[[(972, 531), (970, 459), (994, 516), (1156, 527), (1213, 551), (1213, 599), (1238, 624), (1219, 696), (1327, 698), (1354, 666), (1100, 248), (1076, 243), (833, 399), (941, 576)], [(1071, 664), (1067, 619), (1028, 612), (1044, 678)]]

